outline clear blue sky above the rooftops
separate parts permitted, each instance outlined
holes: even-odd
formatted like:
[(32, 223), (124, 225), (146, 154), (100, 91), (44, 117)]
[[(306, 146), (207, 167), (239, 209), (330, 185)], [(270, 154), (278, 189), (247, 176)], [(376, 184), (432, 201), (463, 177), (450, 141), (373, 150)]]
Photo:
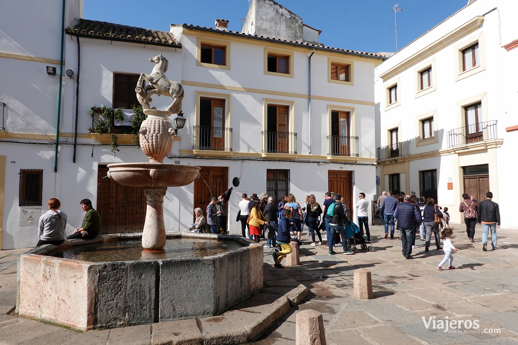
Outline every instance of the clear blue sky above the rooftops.
[[(322, 30), (326, 46), (367, 52), (395, 51), (394, 12), (397, 0), (280, 0)], [(159, 7), (153, 9), (153, 4)], [(318, 4), (315, 6), (315, 4)], [(467, 0), (400, 0), (397, 13), (398, 48), (401, 49), (467, 4)], [(169, 24), (214, 27), (214, 19), (229, 20), (240, 31), (248, 0), (136, 1), (84, 0), (84, 18), (169, 31)]]

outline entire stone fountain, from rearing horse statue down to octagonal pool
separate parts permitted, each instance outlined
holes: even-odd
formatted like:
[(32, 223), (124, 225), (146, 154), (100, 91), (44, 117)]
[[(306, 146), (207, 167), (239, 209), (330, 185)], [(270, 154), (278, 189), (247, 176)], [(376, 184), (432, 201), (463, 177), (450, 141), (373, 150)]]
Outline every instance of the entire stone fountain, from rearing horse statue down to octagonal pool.
[[(65, 240), (20, 254), (20, 315), (80, 330), (151, 324), (219, 315), (263, 287), (262, 245), (238, 235), (166, 233), (167, 187), (192, 183), (200, 168), (163, 163), (185, 121), (183, 89), (165, 77), (162, 54), (149, 61), (153, 71), (142, 73), (136, 88), (148, 116), (139, 137), (149, 163), (108, 165), (110, 179), (143, 187), (143, 232)], [(151, 108), (154, 94), (170, 96), (173, 103), (166, 110)], [(176, 126), (168, 120), (171, 113), (179, 114)]]

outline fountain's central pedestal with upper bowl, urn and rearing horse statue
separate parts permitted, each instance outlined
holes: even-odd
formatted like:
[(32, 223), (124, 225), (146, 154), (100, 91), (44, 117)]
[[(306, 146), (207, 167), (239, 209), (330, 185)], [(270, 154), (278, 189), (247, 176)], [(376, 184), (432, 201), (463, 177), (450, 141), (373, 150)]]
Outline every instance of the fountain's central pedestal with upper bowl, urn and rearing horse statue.
[[(168, 117), (171, 113), (181, 114), (183, 88), (180, 83), (166, 78), (168, 61), (162, 54), (151, 57), (149, 61), (155, 63), (153, 71), (150, 75), (141, 73), (135, 89), (143, 112), (148, 116), (140, 125), (139, 137), (140, 147), (148, 156), (149, 163), (110, 164), (108, 178), (123, 185), (144, 188), (148, 206), (142, 247), (153, 250), (165, 246), (163, 203), (167, 187), (190, 184), (199, 177), (200, 168), (164, 163), (164, 157), (171, 151), (177, 130)], [(144, 80), (149, 85), (143, 85)], [(173, 102), (166, 110), (151, 108), (149, 103), (152, 101), (151, 96), (155, 94), (170, 96)], [(183, 117), (180, 117), (184, 122)]]

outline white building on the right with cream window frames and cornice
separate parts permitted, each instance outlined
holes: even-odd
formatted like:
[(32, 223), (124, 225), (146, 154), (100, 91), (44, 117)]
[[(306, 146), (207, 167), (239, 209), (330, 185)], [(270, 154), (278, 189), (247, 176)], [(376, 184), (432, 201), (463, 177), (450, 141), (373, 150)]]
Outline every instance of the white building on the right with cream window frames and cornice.
[(491, 191), (502, 227), (518, 228), (517, 12), (514, 1), (470, 1), (376, 67), (379, 194), (433, 197), (463, 223), (462, 194)]

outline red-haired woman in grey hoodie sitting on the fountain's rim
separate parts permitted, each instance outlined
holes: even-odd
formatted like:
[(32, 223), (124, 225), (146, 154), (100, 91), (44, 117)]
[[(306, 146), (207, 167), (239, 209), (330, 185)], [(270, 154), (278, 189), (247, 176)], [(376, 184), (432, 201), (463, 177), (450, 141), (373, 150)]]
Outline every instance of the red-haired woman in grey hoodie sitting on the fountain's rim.
[(66, 214), (60, 210), (60, 207), (60, 200), (56, 198), (49, 200), (49, 210), (39, 218), (39, 241), (36, 247), (59, 246), (65, 240)]

